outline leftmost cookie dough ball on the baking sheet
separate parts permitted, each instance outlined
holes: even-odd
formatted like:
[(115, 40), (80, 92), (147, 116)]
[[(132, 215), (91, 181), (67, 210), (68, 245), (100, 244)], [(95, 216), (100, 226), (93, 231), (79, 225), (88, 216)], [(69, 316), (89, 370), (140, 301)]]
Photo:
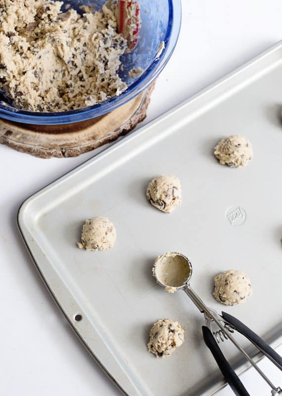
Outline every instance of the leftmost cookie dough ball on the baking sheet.
[(114, 246), (116, 238), (117, 231), (107, 217), (94, 217), (85, 220), (78, 247), (85, 250), (107, 250)]

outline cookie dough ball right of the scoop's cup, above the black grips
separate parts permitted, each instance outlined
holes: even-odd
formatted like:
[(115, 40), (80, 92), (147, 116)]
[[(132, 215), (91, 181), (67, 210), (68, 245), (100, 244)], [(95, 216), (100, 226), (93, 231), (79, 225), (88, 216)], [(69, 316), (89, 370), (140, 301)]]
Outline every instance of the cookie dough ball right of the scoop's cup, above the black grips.
[(243, 271), (230, 269), (214, 278), (213, 296), (223, 304), (241, 304), (251, 295), (250, 280)]

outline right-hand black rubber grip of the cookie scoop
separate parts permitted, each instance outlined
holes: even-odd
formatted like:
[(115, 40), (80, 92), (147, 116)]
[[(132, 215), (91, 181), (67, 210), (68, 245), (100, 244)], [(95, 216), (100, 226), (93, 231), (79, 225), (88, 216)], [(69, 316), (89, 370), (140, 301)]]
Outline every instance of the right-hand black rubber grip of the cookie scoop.
[(256, 347), (261, 349), (266, 353), (266, 357), (268, 357), (273, 362), (276, 362), (278, 366), (280, 366), (280, 370), (282, 370), (282, 357), (272, 348), (270, 347), (262, 338), (260, 338), (257, 334), (255, 334), (251, 329), (249, 329), (246, 325), (244, 325), (240, 320), (235, 318), (229, 313), (222, 312), (222, 317), (228, 323), (236, 327), (236, 330), (239, 331), (243, 336), (245, 336), (250, 342), (252, 342)]

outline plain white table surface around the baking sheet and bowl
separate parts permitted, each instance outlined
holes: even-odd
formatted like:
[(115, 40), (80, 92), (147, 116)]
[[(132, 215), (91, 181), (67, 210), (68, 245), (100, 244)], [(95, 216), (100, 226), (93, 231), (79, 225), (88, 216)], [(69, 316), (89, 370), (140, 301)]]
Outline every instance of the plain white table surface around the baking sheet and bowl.
[[(143, 123), (282, 39), (281, 0), (182, 3), (177, 48), (158, 79)], [(16, 227), (17, 209), (25, 198), (97, 152), (77, 158), (39, 159), (0, 146), (2, 395), (120, 395), (45, 290)], [(281, 372), (267, 359), (262, 365), (282, 386)], [(242, 380), (252, 395), (270, 395), (254, 370), (245, 373)], [(227, 395), (233, 395), (228, 388), (220, 393)]]

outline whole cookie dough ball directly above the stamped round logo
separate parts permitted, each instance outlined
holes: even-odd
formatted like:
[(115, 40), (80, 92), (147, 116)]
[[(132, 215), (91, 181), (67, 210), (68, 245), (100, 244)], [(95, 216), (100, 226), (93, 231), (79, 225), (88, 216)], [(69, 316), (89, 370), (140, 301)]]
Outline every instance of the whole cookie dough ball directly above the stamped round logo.
[(221, 139), (215, 146), (214, 155), (220, 164), (226, 164), (231, 168), (241, 168), (252, 159), (253, 150), (244, 136), (231, 135)]

